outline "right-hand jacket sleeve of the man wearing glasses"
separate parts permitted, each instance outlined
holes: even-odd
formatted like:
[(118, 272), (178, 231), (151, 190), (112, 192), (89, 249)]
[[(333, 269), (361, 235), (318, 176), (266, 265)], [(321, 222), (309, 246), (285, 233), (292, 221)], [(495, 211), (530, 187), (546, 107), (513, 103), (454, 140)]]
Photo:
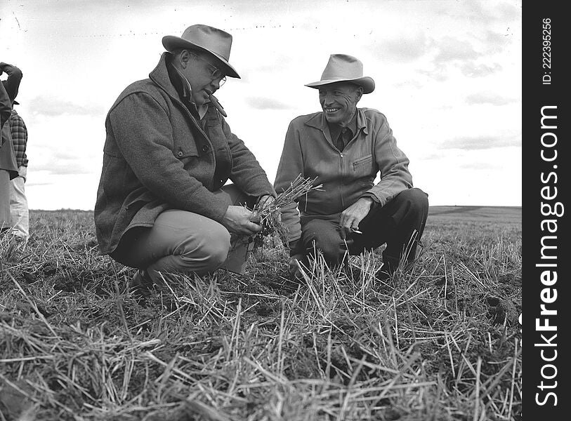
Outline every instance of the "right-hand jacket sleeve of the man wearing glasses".
[(268, 180), (260, 163), (256, 160), (254, 154), (237, 135), (230, 131), (230, 126), (226, 123), (223, 116), (220, 116), (222, 131), (228, 140), (230, 154), (232, 154), (232, 169), (230, 171), (230, 180), (232, 180), (239, 189), (248, 196), (261, 197), (266, 194), (275, 196), (272, 184)]

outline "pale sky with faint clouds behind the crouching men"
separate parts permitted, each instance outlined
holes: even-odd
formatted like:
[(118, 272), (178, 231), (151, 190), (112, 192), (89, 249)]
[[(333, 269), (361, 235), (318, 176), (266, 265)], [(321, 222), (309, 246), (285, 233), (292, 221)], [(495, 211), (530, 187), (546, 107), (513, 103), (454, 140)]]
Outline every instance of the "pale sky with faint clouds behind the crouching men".
[[(376, 83), (431, 206), (521, 206), (521, 0), (1, 0), (0, 61), (22, 70), (31, 209), (91, 210), (105, 116), (147, 78), (162, 37), (202, 23), (230, 32), (242, 79), (216, 97), (273, 182), (289, 122), (320, 111), (329, 55)], [(6, 74), (0, 76), (6, 79)]]

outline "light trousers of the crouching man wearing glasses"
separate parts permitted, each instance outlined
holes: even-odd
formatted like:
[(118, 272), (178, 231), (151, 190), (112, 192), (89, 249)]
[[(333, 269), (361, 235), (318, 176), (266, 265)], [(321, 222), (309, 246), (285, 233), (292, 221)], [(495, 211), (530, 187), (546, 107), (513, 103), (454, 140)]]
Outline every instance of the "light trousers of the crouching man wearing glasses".
[[(246, 203), (247, 196), (234, 185), (226, 185), (215, 192), (229, 205)], [(229, 253), (230, 252), (230, 253)], [(230, 255), (229, 255), (230, 254)], [(247, 257), (247, 244), (232, 247), (230, 233), (223, 225), (186, 210), (165, 210), (150, 228), (135, 227), (124, 234), (119, 246), (111, 254), (117, 262), (129, 267), (145, 269), (153, 281), (166, 273), (209, 274), (236, 260), (236, 254)], [(243, 267), (228, 267), (241, 272)]]

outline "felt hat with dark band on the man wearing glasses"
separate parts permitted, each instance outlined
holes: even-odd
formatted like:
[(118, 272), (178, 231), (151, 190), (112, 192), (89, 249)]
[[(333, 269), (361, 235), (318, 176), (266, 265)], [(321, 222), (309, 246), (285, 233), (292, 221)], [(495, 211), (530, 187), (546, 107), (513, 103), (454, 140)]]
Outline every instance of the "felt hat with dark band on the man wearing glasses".
[(223, 65), (226, 76), (240, 76), (230, 65), (230, 48), (232, 47), (232, 35), (208, 25), (192, 25), (185, 29), (183, 36), (163, 36), (162, 45), (166, 51), (172, 53), (178, 48), (190, 48), (206, 51), (214, 55)]

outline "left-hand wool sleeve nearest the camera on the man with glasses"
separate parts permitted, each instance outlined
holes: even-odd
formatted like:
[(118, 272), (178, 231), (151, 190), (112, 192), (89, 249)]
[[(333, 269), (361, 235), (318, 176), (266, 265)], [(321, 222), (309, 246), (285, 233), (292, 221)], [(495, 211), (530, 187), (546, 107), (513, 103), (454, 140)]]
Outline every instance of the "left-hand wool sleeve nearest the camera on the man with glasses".
[(159, 102), (147, 93), (133, 93), (108, 118), (117, 147), (143, 186), (171, 206), (222, 220), (228, 203), (185, 171), (174, 156), (171, 123)]

